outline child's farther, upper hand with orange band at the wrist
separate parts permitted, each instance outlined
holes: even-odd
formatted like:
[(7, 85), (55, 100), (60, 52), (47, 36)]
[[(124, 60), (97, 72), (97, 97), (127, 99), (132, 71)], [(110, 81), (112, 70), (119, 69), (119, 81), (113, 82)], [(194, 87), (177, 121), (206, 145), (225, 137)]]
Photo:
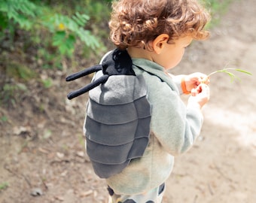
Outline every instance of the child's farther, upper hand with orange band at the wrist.
[(197, 73), (186, 75), (184, 77), (184, 83), (185, 83), (187, 92), (191, 92), (191, 90), (197, 88), (197, 86), (199, 86), (200, 83), (209, 84), (210, 80), (206, 74), (197, 72)]

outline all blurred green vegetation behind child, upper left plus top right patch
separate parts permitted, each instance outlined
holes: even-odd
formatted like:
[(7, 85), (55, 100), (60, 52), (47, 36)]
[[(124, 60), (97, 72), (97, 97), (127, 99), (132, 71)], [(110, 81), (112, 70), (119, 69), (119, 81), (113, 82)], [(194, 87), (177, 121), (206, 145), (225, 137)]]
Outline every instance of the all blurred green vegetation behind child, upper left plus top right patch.
[[(233, 0), (201, 1), (215, 25)], [(50, 88), (42, 69), (66, 71), (102, 56), (110, 10), (111, 0), (0, 1), (0, 105), (15, 105), (32, 79)]]

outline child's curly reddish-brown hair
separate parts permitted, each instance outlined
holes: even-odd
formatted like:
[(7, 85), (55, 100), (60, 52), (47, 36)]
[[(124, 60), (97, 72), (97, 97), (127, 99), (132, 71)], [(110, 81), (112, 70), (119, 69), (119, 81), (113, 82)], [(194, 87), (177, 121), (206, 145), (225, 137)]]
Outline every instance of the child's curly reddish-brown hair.
[(121, 50), (141, 43), (149, 48), (161, 34), (169, 35), (169, 43), (184, 36), (204, 40), (209, 20), (197, 0), (119, 0), (112, 4), (110, 38)]

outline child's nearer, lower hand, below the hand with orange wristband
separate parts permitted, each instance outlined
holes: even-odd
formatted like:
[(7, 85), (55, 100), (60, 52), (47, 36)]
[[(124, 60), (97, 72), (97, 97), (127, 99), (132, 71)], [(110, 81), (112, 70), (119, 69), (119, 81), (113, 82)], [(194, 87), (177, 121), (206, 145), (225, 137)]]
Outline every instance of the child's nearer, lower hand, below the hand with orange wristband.
[(210, 98), (210, 89), (206, 83), (200, 83), (197, 88), (191, 89), (191, 96), (188, 99), (188, 104), (190, 105), (200, 105), (200, 108), (203, 108), (203, 105), (209, 101)]

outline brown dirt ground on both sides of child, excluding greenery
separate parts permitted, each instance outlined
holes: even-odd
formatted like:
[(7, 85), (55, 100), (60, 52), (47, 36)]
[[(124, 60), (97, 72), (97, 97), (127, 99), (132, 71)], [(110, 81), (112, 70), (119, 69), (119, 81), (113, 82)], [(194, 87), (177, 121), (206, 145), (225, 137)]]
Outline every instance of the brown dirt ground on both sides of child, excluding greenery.
[[(254, 0), (234, 2), (211, 38), (188, 47), (172, 71), (209, 74), (227, 66), (253, 76), (234, 72), (241, 82), (233, 83), (224, 73), (211, 77), (202, 133), (175, 159), (163, 203), (256, 202), (255, 14)], [(105, 182), (84, 152), (87, 95), (66, 99), (83, 81), (67, 84), (62, 72), (53, 75), (47, 91), (31, 83), (13, 109), (0, 107), (0, 117), (8, 117), (0, 121), (0, 202), (106, 203)]]

